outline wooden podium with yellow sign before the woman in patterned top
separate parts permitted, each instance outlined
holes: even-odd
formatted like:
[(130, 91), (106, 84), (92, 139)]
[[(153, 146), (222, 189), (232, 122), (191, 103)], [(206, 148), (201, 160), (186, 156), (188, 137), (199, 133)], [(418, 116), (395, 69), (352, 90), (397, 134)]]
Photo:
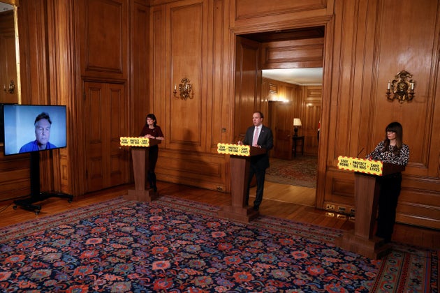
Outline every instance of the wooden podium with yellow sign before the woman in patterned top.
[(338, 167), (355, 172), (355, 227), (354, 231), (344, 232), (335, 243), (340, 248), (378, 260), (389, 253), (390, 246), (374, 236), (380, 191), (376, 177), (402, 172), (405, 167), (342, 156), (339, 156)]

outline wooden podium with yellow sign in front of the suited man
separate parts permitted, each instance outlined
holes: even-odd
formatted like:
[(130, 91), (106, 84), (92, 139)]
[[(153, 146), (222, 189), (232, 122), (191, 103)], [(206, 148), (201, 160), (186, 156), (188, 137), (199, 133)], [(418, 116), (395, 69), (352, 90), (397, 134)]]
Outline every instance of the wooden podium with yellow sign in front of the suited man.
[(246, 204), (247, 184), (251, 157), (266, 153), (266, 149), (239, 144), (217, 144), (217, 152), (230, 155), (231, 205), (222, 206), (218, 216), (242, 223), (249, 223), (259, 213)]

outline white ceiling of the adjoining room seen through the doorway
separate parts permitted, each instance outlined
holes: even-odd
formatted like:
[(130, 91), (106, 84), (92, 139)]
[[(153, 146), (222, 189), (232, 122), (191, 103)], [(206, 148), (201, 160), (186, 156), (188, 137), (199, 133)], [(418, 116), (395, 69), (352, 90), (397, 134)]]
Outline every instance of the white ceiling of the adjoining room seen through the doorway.
[(291, 68), (263, 70), (263, 77), (300, 86), (323, 84), (323, 68)]

